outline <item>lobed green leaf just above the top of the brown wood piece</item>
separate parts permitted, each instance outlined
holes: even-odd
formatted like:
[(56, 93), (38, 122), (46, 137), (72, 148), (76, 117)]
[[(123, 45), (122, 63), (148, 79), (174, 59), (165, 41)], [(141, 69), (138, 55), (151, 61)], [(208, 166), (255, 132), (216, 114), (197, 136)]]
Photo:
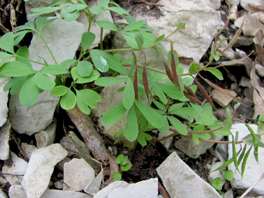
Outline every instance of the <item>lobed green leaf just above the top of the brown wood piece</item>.
[(92, 89), (76, 90), (76, 98), (79, 108), (85, 114), (90, 114), (89, 107), (95, 109), (97, 108), (97, 102), (101, 102), (100, 95)]

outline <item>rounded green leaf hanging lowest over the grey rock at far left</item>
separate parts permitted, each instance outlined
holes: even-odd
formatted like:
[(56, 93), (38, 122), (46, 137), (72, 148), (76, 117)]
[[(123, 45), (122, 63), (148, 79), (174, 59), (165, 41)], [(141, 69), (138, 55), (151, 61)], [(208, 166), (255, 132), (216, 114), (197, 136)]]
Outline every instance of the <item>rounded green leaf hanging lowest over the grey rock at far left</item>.
[(38, 86), (35, 84), (34, 77), (31, 77), (22, 85), (19, 100), (24, 106), (32, 106), (38, 101), (38, 94)]

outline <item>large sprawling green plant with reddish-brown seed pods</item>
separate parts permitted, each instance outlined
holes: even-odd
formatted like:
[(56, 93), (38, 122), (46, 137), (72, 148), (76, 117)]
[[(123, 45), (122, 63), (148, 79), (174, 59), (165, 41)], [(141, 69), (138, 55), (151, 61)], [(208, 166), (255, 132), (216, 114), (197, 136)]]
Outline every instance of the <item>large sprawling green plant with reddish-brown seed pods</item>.
[[(212, 41), (208, 64), (201, 66), (197, 63), (191, 63), (189, 66), (189, 72), (183, 73), (183, 67), (179, 63), (177, 52), (173, 49), (173, 43), (169, 38), (177, 31), (185, 29), (185, 23), (179, 23), (175, 28), (175, 31), (170, 35), (165, 36), (165, 34), (163, 34), (156, 38), (155, 35), (150, 33), (151, 29), (146, 25), (146, 21), (136, 21), (136, 19), (130, 16), (126, 10), (122, 9), (114, 2), (100, 0), (99, 6), (94, 7), (87, 6), (83, 0), (78, 0), (78, 2), (79, 3), (74, 4), (70, 0), (56, 0), (46, 7), (32, 9), (32, 11), (36, 13), (29, 15), (36, 16), (63, 9), (60, 12), (60, 19), (63, 21), (74, 21), (78, 18), (80, 12), (84, 12), (87, 16), (89, 27), (88, 31), (82, 34), (82, 50), (77, 60), (68, 59), (58, 63), (56, 57), (54, 57), (41, 34), (42, 28), (49, 23), (52, 23), (57, 18), (47, 20), (47, 17), (39, 17), (35, 21), (29, 21), (25, 25), (18, 26), (15, 33), (9, 32), (0, 38), (0, 47), (7, 52), (0, 52), (0, 58), (5, 58), (0, 63), (0, 77), (12, 77), (12, 79), (4, 86), (4, 91), (10, 89), (10, 94), (15, 94), (20, 90), (19, 98), (21, 104), (32, 106), (36, 103), (39, 94), (43, 90), (52, 89), (51, 94), (53, 96), (61, 97), (60, 105), (63, 109), (72, 109), (77, 103), (81, 111), (85, 114), (89, 114), (90, 108), (96, 108), (97, 102), (101, 101), (101, 97), (92, 89), (78, 90), (76, 84), (94, 81), (98, 86), (111, 86), (126, 81), (125, 87), (119, 90), (123, 92), (123, 102), (109, 109), (102, 117), (104, 123), (111, 124), (121, 119), (121, 117), (128, 111), (126, 126), (123, 131), (117, 132), (116, 135), (125, 136), (129, 141), (137, 140), (143, 146), (147, 144), (147, 140), (152, 139), (155, 141), (161, 141), (152, 138), (152, 136), (147, 133), (147, 131), (156, 129), (161, 132), (167, 132), (168, 130), (174, 131), (175, 133), (170, 136), (186, 136), (192, 138), (196, 144), (199, 144), (199, 141), (221, 143), (221, 141), (217, 142), (209, 140), (211, 135), (232, 135), (233, 141), (228, 143), (233, 144), (234, 152), (233, 158), (231, 158), (228, 163), (234, 162), (237, 166), (241, 162), (244, 154), (242, 152), (237, 160), (237, 155), (240, 151), (236, 153), (234, 144), (242, 142), (247, 143), (248, 145), (251, 144), (251, 147), (252, 145), (254, 146), (255, 157), (257, 160), (258, 146), (263, 147), (263, 143), (260, 141), (260, 135), (263, 135), (263, 133), (255, 134), (255, 132), (245, 123), (251, 131), (251, 135), (243, 138), (243, 141), (237, 141), (237, 136), (235, 138), (229, 130), (232, 126), (232, 121), (235, 120), (234, 116), (231, 117), (229, 109), (227, 109), (229, 112), (229, 119), (225, 120), (223, 123), (215, 119), (212, 115), (212, 107), (215, 108), (215, 106), (209, 97), (209, 94), (194, 78), (194, 75), (200, 75), (200, 71), (207, 71), (211, 72), (219, 80), (223, 80), (221, 72), (217, 69), (218, 67), (233, 65), (245, 60), (251, 55), (250, 53), (239, 60), (220, 64), (216, 67), (209, 67), (213, 60), (219, 60), (219, 55), (233, 46), (241, 33), (243, 23), (224, 50), (219, 52), (218, 49), (220, 48), (221, 43), (224, 40), (227, 40), (227, 38), (217, 40), (217, 35), (226, 28), (229, 23), (229, 19), (227, 19), (225, 27), (215, 35), (215, 39)], [(59, 6), (59, 4), (64, 3), (69, 3), (70, 5)], [(108, 5), (112, 6), (107, 7)], [(116, 12), (123, 16), (128, 25), (117, 26), (109, 21), (104, 21), (104, 17), (102, 20), (97, 20), (99, 13), (104, 13), (106, 10)], [(87, 50), (96, 37), (96, 35), (90, 32), (92, 23), (97, 23), (101, 27), (101, 35), (103, 29), (122, 35), (124, 38), (123, 43), (126, 42), (130, 47), (121, 48), (121, 46), (118, 49), (103, 50), (101, 36), (100, 50)], [(39, 35), (43, 40), (50, 55), (53, 57), (54, 64), (48, 65), (45, 60), (43, 60), (43, 62), (29, 60), (29, 50), (26, 46), (19, 48), (16, 52), (14, 51), (13, 46), (17, 45), (23, 37), (30, 32)], [(162, 42), (170, 42), (171, 49), (168, 53), (163, 45), (161, 45)], [(160, 52), (160, 57), (163, 58), (165, 70), (158, 70), (146, 66), (147, 57), (145, 56), (144, 50), (148, 48)], [(136, 50), (143, 53), (145, 57), (144, 65), (137, 64), (137, 58), (134, 53)], [(131, 58), (120, 63), (121, 55), (117, 52), (121, 51), (131, 52)], [(115, 54), (111, 55), (110, 53)], [(168, 58), (168, 64), (165, 56)], [(11, 57), (16, 57), (16, 60), (7, 62)], [(93, 70), (93, 65), (88, 60), (93, 62), (98, 71)], [(43, 67), (38, 71), (33, 70), (31, 62), (42, 65)], [(70, 67), (71, 65), (73, 65), (73, 67)], [(127, 70), (125, 67), (130, 67), (130, 70)], [(110, 71), (113, 75), (112, 77), (99, 77), (99, 71)], [(116, 74), (125, 77), (114, 77)], [(164, 76), (164, 74), (167, 75), (167, 77)], [(51, 75), (53, 75), (55, 79), (51, 78)], [(182, 78), (183, 76), (189, 77)], [(73, 80), (71, 80), (70, 77), (72, 77)], [(204, 79), (201, 75), (200, 77), (219, 92), (233, 97), (221, 87)], [(192, 78), (197, 85), (188, 86)], [(160, 83), (160, 79), (162, 79), (164, 83)], [(67, 80), (71, 81), (69, 87), (65, 86)], [(207, 103), (203, 104), (197, 98), (195, 94), (197, 87), (207, 100)], [(149, 103), (152, 101), (156, 109), (139, 101), (139, 98), (143, 94), (146, 94)], [(237, 107), (235, 106), (235, 109), (236, 108)], [(259, 121), (262, 120), (263, 119), (259, 119)], [(170, 125), (174, 128), (170, 128)], [(263, 124), (261, 124), (261, 126), (263, 126)], [(260, 131), (263, 131), (263, 129), (260, 129)], [(246, 155), (243, 163), (244, 161), (246, 163)], [(116, 173), (116, 175), (118, 174), (119, 173)], [(241, 175), (243, 175), (242, 170)]]

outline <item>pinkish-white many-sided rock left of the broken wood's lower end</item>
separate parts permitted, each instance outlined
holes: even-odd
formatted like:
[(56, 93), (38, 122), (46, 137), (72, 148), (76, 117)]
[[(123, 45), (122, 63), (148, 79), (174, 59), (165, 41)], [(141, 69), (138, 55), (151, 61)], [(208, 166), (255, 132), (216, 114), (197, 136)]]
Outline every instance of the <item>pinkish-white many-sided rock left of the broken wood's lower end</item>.
[(63, 190), (81, 191), (95, 178), (94, 169), (82, 158), (64, 164)]

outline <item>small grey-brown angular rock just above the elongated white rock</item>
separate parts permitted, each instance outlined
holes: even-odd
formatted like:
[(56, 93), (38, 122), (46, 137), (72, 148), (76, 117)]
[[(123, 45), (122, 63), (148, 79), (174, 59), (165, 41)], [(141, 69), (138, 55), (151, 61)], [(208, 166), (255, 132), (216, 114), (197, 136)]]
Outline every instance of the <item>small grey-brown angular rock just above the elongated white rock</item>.
[(42, 148), (51, 145), (56, 137), (56, 121), (51, 123), (44, 130), (35, 133), (35, 139), (37, 142), (37, 148)]

